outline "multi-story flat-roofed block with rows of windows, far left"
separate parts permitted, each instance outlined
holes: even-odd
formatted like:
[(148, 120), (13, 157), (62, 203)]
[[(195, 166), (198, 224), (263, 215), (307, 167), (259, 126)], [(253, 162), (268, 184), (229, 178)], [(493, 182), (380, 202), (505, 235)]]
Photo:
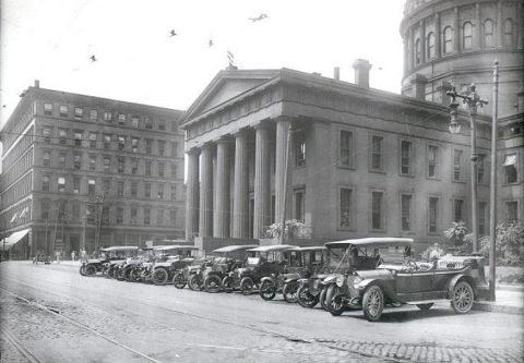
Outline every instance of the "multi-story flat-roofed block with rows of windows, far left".
[(183, 238), (181, 116), (35, 82), (2, 130), (1, 228), (22, 255)]

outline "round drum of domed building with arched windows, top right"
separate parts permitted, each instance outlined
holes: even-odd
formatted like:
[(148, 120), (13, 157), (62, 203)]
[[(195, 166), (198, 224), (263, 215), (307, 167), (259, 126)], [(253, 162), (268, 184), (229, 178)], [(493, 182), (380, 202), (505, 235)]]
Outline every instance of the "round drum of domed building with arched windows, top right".
[(479, 112), (491, 113), (492, 65), (499, 60), (499, 114), (522, 112), (524, 75), (523, 9), (514, 0), (407, 0), (402, 94), (442, 102), (445, 88), (475, 83), (489, 100)]

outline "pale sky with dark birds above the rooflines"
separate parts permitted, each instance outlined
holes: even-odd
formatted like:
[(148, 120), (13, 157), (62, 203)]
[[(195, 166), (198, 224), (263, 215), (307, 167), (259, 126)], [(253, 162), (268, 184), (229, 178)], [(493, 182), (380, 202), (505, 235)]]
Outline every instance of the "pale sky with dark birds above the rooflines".
[[(371, 87), (401, 89), (405, 0), (0, 1), (0, 125), (35, 80), (43, 88), (186, 110), (228, 65), (228, 50), (239, 69), (331, 77), (340, 66), (347, 82), (362, 58), (373, 65)], [(261, 13), (267, 17), (249, 20)]]

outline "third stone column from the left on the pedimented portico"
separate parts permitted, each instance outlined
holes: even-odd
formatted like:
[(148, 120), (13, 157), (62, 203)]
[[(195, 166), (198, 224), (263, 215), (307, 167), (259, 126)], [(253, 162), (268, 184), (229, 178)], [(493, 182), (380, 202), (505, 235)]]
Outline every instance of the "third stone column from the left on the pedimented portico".
[(216, 197), (213, 218), (213, 237), (229, 237), (229, 146), (230, 141), (216, 142)]

